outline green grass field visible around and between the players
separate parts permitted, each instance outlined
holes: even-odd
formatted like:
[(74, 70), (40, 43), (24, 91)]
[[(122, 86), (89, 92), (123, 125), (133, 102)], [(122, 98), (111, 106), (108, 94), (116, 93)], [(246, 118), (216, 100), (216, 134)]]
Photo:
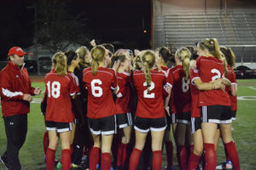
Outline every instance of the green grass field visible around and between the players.
[[(236, 147), (240, 157), (242, 170), (256, 169), (256, 80), (238, 80), (238, 111), (236, 122), (233, 122), (233, 138), (236, 141)], [(33, 82), (33, 87), (41, 87), (43, 91), (43, 82)], [(248, 97), (241, 97), (248, 96)], [(253, 97), (250, 97), (253, 96)], [(43, 94), (33, 98), (31, 104), (31, 113), (28, 114), (28, 131), (26, 142), (20, 150), (20, 162), (22, 169), (43, 170), (44, 150), (44, 117), (40, 112), (40, 101)], [(247, 99), (247, 100), (245, 100)], [(6, 150), (6, 136), (4, 131), (3, 119), (0, 119), (0, 154)], [(57, 151), (56, 158), (60, 158), (61, 150)], [(219, 142), (218, 162), (224, 161), (224, 147)], [(175, 157), (175, 155), (174, 155)], [(166, 156), (163, 156), (163, 167), (166, 165)], [(176, 158), (174, 161), (177, 164)], [(0, 163), (0, 170), (3, 170), (3, 164)]]

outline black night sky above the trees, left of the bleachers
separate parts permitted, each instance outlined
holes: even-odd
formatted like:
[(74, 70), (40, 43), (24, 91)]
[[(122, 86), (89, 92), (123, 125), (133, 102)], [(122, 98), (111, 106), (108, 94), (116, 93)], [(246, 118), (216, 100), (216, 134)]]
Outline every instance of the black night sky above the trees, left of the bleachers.
[[(33, 45), (34, 6), (38, 5), (40, 8), (38, 2), (40, 0), (1, 1), (1, 60), (6, 59), (9, 48), (13, 46), (27, 48)], [(88, 39), (96, 39), (97, 43), (122, 42), (125, 44), (124, 48), (150, 48), (151, 4), (149, 0), (67, 0), (59, 2), (67, 2), (68, 14), (72, 16), (80, 14), (80, 18), (82, 16), (85, 27), (81, 32)], [(58, 6), (56, 5), (55, 8)], [(39, 23), (37, 26), (39, 30), (40, 26), (44, 25)], [(87, 42), (84, 45), (89, 44)]]

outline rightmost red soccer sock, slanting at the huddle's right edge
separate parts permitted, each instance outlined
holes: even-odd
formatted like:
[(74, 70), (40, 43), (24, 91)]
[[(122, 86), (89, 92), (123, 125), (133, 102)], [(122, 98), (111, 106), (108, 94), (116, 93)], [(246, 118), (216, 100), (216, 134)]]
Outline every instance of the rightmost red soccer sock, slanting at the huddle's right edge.
[(225, 149), (228, 152), (228, 155), (230, 156), (230, 160), (232, 161), (233, 166), (236, 168), (236, 170), (240, 170), (240, 162), (239, 162), (239, 156), (236, 150), (236, 144), (231, 141), (230, 143), (224, 144)]

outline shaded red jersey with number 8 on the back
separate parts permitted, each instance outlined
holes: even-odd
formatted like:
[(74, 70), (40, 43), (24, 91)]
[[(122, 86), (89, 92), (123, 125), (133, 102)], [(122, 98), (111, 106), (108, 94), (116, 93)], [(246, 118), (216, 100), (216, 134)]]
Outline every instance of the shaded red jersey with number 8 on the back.
[(172, 102), (175, 106), (175, 113), (191, 111), (191, 94), (189, 80), (186, 80), (183, 65), (177, 65), (172, 69)]

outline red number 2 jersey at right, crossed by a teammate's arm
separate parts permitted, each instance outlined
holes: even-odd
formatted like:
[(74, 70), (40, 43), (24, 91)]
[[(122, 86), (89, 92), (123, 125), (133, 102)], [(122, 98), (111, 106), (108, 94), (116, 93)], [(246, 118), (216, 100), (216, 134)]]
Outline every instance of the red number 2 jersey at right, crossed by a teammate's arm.
[[(224, 63), (220, 59), (201, 56), (196, 59), (196, 66), (202, 82), (212, 82), (224, 77)], [(221, 89), (201, 91), (199, 106), (204, 105), (230, 105), (230, 98)]]

